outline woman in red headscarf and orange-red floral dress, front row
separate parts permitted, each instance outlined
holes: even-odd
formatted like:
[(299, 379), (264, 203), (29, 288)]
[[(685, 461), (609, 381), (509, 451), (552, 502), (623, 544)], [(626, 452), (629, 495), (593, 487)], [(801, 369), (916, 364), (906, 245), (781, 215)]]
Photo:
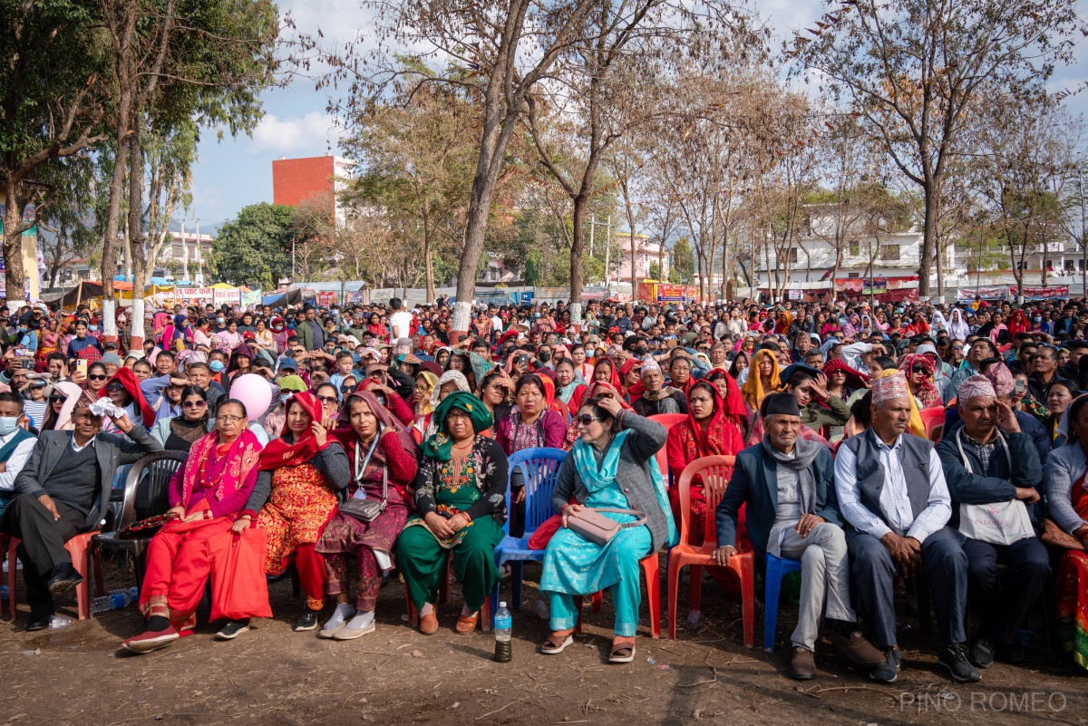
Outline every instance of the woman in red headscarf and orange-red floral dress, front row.
[(351, 472), (344, 448), (321, 425), (324, 409), (317, 396), (295, 393), (286, 414), (283, 435), (261, 451), (257, 485), (233, 529), (268, 533), (265, 575), (280, 577), (294, 561), (306, 592), (306, 610), (295, 622), (300, 633), (318, 627), (325, 604), (325, 560), (313, 544)]

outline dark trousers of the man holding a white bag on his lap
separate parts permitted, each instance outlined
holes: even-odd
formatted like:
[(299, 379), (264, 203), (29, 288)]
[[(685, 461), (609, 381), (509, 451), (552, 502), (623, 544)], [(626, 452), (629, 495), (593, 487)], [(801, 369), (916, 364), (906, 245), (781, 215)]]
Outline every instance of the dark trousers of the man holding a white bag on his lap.
[[(1016, 629), (1039, 599), (1050, 577), (1050, 555), (1037, 537), (1012, 544), (977, 539), (963, 543), (967, 554), (967, 600), (982, 621), (980, 634), (1003, 646), (1012, 644)], [(1006, 565), (1004, 573), (998, 565)]]

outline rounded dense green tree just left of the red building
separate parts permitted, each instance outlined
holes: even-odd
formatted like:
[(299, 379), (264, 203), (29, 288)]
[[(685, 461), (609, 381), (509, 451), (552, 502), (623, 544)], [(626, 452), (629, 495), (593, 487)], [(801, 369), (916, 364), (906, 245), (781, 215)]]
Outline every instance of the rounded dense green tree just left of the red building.
[(290, 274), (294, 210), (284, 204), (250, 204), (219, 229), (212, 245), (218, 278), (234, 285), (275, 289)]

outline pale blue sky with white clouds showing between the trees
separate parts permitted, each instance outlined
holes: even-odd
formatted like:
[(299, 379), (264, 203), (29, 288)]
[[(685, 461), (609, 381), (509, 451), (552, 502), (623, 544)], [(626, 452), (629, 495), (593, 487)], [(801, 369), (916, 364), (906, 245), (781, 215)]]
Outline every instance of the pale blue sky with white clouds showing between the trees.
[[(759, 12), (779, 36), (811, 25), (826, 12), (816, 0), (769, 0), (758, 3)], [(1081, 15), (1088, 0), (1079, 0)], [(345, 41), (366, 37), (368, 13), (357, 0), (281, 0), (281, 12), (290, 12), (302, 32), (320, 27), (326, 40)], [(1088, 79), (1088, 39), (1077, 47), (1077, 62), (1060, 68), (1055, 89), (1073, 87)], [(264, 95), (264, 118), (252, 137), (218, 141), (207, 133), (200, 142), (199, 162), (193, 174), (193, 205), (185, 214), (186, 226), (195, 218), (208, 228), (232, 220), (247, 204), (272, 201), (272, 161), (280, 157), (316, 157), (337, 153), (339, 128), (327, 115), (329, 91), (317, 91), (313, 82), (297, 79), (286, 88)], [(1078, 113), (1088, 113), (1088, 90), (1068, 101)], [(178, 215), (180, 216), (180, 215)], [(190, 227), (191, 228), (191, 227)]]

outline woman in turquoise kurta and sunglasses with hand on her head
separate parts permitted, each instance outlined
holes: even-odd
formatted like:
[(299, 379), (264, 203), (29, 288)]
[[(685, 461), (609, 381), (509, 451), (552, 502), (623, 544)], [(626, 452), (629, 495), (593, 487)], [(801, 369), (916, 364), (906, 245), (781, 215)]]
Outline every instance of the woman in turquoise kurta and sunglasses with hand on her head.
[[(552, 634), (541, 652), (560, 653), (572, 642), (578, 619), (574, 596), (611, 588), (616, 623), (608, 660), (630, 663), (639, 624), (639, 561), (676, 539), (665, 480), (654, 458), (665, 445), (666, 431), (660, 424), (623, 410), (615, 399), (586, 401), (576, 421), (580, 438), (564, 462), (567, 471), (560, 470), (553, 497), (564, 526), (544, 553), (541, 590), (551, 597)], [(571, 496), (578, 503), (567, 503)], [(639, 510), (646, 521), (621, 528), (602, 547), (567, 528), (568, 517), (585, 508)], [(640, 518), (611, 512), (602, 515), (620, 524)]]

